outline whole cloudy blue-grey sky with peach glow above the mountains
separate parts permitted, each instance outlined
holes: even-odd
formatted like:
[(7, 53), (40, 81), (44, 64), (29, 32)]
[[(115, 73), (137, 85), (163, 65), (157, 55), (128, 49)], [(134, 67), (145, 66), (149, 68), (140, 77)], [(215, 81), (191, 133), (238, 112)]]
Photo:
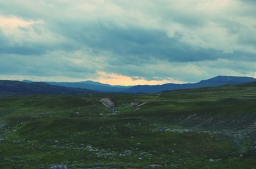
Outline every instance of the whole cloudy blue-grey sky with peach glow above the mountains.
[(0, 79), (256, 77), (254, 0), (0, 0)]

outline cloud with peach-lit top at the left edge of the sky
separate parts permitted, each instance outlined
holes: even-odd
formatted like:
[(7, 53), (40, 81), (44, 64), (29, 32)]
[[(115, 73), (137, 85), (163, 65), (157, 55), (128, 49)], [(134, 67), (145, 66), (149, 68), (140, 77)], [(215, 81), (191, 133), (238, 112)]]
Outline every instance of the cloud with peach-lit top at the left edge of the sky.
[(67, 50), (74, 47), (72, 41), (52, 33), (43, 20), (24, 20), (0, 15), (0, 54), (44, 54), (51, 50)]

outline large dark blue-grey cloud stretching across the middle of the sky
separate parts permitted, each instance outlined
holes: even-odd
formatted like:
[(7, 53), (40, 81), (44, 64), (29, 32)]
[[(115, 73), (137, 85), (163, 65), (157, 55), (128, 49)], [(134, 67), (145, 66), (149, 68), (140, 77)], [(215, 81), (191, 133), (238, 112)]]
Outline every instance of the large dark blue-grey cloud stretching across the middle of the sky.
[(62, 34), (79, 41), (81, 45), (111, 52), (115, 57), (122, 57), (127, 63), (157, 57), (168, 61), (188, 62), (214, 60), (226, 56), (223, 52), (205, 48), (193, 48), (179, 41), (179, 35), (169, 38), (164, 31), (140, 29), (136, 27), (105, 27), (103, 24), (61, 25)]

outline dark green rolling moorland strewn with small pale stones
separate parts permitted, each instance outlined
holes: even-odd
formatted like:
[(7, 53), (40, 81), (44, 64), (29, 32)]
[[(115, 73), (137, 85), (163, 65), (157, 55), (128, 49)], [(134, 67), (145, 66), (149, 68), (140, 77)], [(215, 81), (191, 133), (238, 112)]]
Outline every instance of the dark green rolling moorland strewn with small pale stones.
[(2, 98), (0, 118), (3, 169), (256, 168), (255, 85)]

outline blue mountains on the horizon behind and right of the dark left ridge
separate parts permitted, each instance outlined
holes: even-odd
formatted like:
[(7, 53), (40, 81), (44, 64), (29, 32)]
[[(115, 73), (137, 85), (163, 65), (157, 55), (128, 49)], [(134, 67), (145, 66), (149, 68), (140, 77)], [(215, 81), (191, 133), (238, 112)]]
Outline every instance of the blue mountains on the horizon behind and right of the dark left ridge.
[[(171, 91), (179, 89), (194, 89), (200, 87), (213, 87), (219, 85), (236, 85), (248, 82), (255, 82), (256, 78), (252, 77), (231, 77), (231, 76), (218, 76), (201, 80), (197, 83), (188, 84), (163, 84), (163, 85), (135, 85), (135, 86), (122, 86), (122, 85), (109, 85), (93, 81), (84, 82), (44, 82), (50, 85), (58, 85), (62, 87), (76, 87), (81, 89), (89, 89), (99, 92), (131, 92), (131, 93), (157, 93), (162, 91)], [(23, 82), (31, 82), (24, 80)]]

